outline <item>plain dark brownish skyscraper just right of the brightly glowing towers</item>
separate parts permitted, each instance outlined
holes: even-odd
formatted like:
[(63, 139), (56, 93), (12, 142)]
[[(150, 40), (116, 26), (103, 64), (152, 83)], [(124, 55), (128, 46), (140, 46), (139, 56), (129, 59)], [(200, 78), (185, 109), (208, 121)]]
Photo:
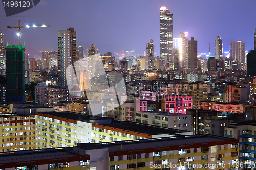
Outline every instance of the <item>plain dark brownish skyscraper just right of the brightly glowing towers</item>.
[(191, 37), (191, 40), (188, 41), (188, 73), (194, 72), (197, 70), (197, 41), (194, 40), (194, 37)]

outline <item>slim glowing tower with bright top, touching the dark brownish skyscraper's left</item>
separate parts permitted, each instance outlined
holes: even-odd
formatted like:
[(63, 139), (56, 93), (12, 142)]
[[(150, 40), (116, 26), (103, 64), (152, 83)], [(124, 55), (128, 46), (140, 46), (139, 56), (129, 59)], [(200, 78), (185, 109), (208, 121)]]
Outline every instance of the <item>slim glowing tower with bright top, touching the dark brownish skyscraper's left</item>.
[(180, 33), (180, 38), (181, 38), (181, 46), (179, 47), (180, 51), (180, 66), (183, 69), (187, 69), (187, 53), (188, 53), (188, 38), (187, 38), (187, 32), (185, 33)]

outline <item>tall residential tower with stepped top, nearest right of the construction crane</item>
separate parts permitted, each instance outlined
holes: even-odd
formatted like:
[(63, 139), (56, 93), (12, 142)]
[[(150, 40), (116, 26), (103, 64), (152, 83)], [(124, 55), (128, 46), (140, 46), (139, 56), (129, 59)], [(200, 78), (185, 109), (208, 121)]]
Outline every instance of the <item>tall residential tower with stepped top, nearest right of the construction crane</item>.
[[(72, 79), (74, 75), (66, 76), (66, 69), (69, 65), (76, 62), (76, 32), (74, 28), (69, 28), (67, 31), (58, 31), (58, 84), (65, 86), (76, 81)], [(68, 70), (71, 72), (71, 70)], [(66, 80), (67, 78), (67, 80)]]

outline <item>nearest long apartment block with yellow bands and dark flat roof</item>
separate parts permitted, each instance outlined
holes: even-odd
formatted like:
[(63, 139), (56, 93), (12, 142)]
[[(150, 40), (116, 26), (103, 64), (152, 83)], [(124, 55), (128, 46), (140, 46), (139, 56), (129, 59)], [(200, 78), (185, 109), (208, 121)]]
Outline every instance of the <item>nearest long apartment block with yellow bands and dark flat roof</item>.
[[(157, 139), (157, 140), (156, 140)], [(162, 137), (109, 143), (81, 143), (77, 147), (41, 149), (0, 155), (0, 168), (14, 170), (65, 169), (229, 169), (237, 167), (238, 139), (211, 135)], [(201, 142), (198, 142), (198, 140)], [(164, 146), (164, 147), (163, 147)], [(35, 156), (36, 154), (36, 156)], [(37, 157), (38, 156), (38, 157)], [(14, 159), (17, 158), (17, 159)], [(31, 160), (31, 161), (27, 161)]]

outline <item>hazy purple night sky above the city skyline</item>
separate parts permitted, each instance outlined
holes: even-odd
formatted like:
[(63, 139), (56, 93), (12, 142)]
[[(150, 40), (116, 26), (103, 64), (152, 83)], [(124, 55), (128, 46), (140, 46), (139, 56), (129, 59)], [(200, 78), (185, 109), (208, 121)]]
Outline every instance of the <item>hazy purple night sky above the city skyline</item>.
[[(35, 24), (50, 24), (47, 28), (22, 29), (22, 42), (26, 53), (41, 56), (40, 51), (57, 51), (57, 31), (74, 27), (77, 45), (89, 48), (96, 45), (100, 54), (135, 50), (142, 55), (146, 43), (154, 40), (155, 53), (159, 56), (160, 7), (173, 12), (174, 38), (180, 32), (188, 32), (198, 41), (198, 52), (214, 54), (217, 35), (229, 51), (231, 41), (245, 41), (246, 50), (253, 48), (256, 28), (256, 1), (237, 0), (177, 0), (177, 1), (89, 1), (89, 0), (41, 0), (32, 9), (6, 17), (0, 5), (0, 30), (6, 41), (17, 41), (17, 29), (9, 30), (18, 20)], [(22, 25), (25, 25), (22, 24)], [(16, 23), (17, 26), (17, 23)]]

